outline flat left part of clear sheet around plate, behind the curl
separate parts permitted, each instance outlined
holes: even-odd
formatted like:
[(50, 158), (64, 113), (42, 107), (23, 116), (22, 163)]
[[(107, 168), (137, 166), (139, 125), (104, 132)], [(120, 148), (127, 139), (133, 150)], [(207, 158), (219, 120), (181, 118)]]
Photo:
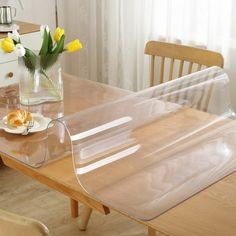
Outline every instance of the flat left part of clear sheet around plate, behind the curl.
[[(41, 126), (41, 131), (25, 136), (20, 133), (9, 133), (2, 129), (5, 126), (3, 118), (9, 111), (23, 109), (36, 114), (37, 117), (43, 115), (47, 119), (58, 119), (129, 94), (125, 90), (68, 74), (63, 75), (63, 80), (65, 81), (63, 102), (33, 106), (23, 106), (19, 103), (17, 84), (0, 88), (0, 155), (34, 168), (39, 168), (43, 164), (58, 160), (58, 158), (66, 156), (71, 158), (70, 139), (65, 127), (57, 129), (55, 124), (53, 133), (49, 136), (47, 135), (47, 123), (43, 124), (45, 130), (42, 130)], [(48, 143), (50, 145), (47, 145)], [(63, 145), (59, 149), (61, 143)]]

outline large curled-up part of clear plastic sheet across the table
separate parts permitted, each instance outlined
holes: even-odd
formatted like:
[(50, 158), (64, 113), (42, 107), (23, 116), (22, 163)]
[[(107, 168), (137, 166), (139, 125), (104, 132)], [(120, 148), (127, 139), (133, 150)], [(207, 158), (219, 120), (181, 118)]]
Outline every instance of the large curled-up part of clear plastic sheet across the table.
[[(48, 146), (62, 156), (71, 145), (92, 198), (150, 220), (235, 171), (228, 87), (220, 68), (193, 73), (53, 121)], [(55, 144), (60, 130), (67, 138)]]

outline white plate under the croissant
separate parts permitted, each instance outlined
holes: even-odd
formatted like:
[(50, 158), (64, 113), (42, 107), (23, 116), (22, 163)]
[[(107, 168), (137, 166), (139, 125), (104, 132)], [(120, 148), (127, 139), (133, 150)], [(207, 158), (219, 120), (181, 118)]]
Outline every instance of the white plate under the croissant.
[[(34, 119), (34, 126), (29, 130), (29, 133), (36, 133), (43, 131), (47, 129), (49, 122), (51, 121), (50, 118), (44, 117), (41, 114), (38, 113), (32, 113), (33, 119)], [(13, 128), (7, 125), (7, 117), (3, 117), (2, 120), (0, 120), (0, 129), (3, 129), (7, 133), (11, 134), (22, 134), (25, 129), (27, 128), (27, 125), (20, 126), (18, 128)]]

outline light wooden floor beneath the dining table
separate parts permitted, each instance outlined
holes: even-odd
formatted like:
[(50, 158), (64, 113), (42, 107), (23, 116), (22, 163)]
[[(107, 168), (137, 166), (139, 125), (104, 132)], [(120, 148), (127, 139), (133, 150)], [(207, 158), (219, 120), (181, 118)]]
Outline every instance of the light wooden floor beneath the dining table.
[(0, 163), (0, 208), (42, 221), (52, 236), (143, 236), (146, 227), (112, 212), (94, 212), (86, 232), (70, 217), (69, 199)]

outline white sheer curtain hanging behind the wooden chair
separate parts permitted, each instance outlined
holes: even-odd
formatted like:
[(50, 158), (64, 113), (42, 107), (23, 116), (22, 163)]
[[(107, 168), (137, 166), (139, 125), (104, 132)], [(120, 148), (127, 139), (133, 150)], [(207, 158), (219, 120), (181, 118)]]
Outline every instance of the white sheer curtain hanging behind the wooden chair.
[(236, 78), (235, 10), (234, 0), (61, 0), (64, 27), (85, 46), (73, 60), (70, 55), (67, 70), (140, 90), (149, 80), (145, 43), (162, 39), (222, 53)]

